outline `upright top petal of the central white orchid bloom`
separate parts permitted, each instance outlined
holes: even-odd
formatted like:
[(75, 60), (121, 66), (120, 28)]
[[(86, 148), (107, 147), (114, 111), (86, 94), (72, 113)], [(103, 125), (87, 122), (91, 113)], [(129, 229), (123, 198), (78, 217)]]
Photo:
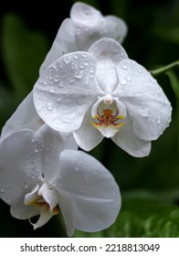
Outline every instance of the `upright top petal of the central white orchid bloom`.
[(95, 42), (89, 53), (97, 60), (97, 80), (102, 91), (112, 92), (118, 85), (116, 65), (122, 59), (128, 59), (121, 45), (111, 38), (102, 38)]

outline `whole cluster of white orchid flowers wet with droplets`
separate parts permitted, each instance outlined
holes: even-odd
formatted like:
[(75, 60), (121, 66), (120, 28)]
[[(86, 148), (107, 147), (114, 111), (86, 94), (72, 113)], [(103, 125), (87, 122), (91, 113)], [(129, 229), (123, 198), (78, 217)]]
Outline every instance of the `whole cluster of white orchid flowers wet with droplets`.
[(120, 18), (74, 4), (33, 91), (5, 123), (0, 197), (34, 229), (59, 212), (68, 236), (109, 228), (121, 208), (120, 189), (84, 151), (105, 137), (132, 156), (149, 155), (171, 121), (162, 88), (121, 47), (126, 35)]

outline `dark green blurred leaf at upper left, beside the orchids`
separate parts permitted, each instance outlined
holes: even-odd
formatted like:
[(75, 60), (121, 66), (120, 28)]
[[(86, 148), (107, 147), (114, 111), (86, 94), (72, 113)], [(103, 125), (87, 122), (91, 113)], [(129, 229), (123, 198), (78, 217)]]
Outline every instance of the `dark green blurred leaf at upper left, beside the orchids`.
[(31, 91), (38, 69), (47, 54), (47, 38), (30, 31), (16, 15), (8, 14), (2, 22), (2, 55), (6, 76), (23, 98)]

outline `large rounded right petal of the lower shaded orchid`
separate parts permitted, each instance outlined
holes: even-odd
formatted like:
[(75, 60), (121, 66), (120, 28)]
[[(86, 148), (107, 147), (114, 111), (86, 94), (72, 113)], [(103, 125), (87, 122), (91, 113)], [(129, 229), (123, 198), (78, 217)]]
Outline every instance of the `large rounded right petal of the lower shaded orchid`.
[(64, 151), (60, 163), (56, 188), (61, 197), (68, 195), (68, 206), (63, 210), (60, 200), (59, 206), (62, 212), (68, 207), (71, 210), (72, 229), (94, 232), (110, 227), (121, 208), (119, 187), (111, 173), (94, 157), (79, 151)]

